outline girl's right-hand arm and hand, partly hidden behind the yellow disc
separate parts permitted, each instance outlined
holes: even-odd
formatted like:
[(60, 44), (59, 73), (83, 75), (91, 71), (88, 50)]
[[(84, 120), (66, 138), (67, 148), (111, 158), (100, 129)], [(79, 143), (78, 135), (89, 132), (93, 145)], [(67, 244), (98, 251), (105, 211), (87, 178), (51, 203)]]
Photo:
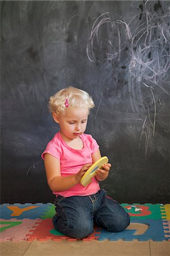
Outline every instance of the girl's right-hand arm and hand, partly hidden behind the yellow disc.
[[(101, 158), (101, 152), (99, 151), (99, 149), (92, 155), (92, 159), (93, 159), (93, 163), (95, 163), (98, 159)], [(109, 175), (109, 170), (110, 170), (111, 164), (107, 163), (107, 164), (103, 164), (102, 168), (103, 169), (98, 169), (97, 170), (97, 174), (96, 174), (96, 179), (98, 181), (103, 181), (105, 179), (107, 179), (107, 176)]]

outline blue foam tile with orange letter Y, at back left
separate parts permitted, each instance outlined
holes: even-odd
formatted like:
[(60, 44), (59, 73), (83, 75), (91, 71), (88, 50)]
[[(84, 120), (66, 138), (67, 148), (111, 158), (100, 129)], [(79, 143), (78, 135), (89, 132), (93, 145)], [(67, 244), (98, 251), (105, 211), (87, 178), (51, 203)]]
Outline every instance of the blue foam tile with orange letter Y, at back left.
[(2, 204), (1, 205), (1, 218), (9, 220), (10, 218), (16, 218), (22, 220), (23, 218), (29, 218), (35, 220), (41, 218), (46, 213), (48, 208), (53, 204)]

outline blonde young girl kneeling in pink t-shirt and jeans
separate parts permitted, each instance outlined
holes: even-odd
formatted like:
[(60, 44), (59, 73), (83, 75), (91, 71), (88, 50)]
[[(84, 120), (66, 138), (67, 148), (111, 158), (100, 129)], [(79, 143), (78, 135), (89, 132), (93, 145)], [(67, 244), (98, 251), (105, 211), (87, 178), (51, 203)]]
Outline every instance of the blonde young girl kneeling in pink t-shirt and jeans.
[(49, 188), (56, 195), (53, 225), (74, 238), (93, 233), (93, 223), (110, 232), (124, 230), (130, 217), (117, 201), (106, 196), (98, 181), (109, 175), (110, 163), (97, 170), (92, 182), (83, 187), (81, 177), (101, 158), (95, 139), (85, 134), (92, 97), (84, 90), (68, 87), (49, 99), (49, 110), (60, 131), (47, 144), (42, 158)]

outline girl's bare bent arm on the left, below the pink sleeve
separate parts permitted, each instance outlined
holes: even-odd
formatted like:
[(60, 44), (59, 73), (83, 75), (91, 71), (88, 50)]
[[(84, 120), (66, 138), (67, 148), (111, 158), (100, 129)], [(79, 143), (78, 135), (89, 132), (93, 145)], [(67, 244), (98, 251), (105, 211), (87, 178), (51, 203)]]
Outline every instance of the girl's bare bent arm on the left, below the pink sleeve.
[(47, 183), (52, 191), (65, 191), (80, 183), (81, 177), (85, 174), (89, 167), (92, 166), (91, 163), (85, 164), (77, 174), (62, 177), (59, 159), (46, 153), (44, 155), (44, 164)]

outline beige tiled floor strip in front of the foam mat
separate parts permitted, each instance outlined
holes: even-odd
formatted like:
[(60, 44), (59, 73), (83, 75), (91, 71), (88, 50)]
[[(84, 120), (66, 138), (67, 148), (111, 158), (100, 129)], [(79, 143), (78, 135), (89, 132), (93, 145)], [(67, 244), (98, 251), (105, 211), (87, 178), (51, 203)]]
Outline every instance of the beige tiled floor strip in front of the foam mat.
[(169, 256), (170, 242), (23, 241), (0, 243), (1, 256)]

